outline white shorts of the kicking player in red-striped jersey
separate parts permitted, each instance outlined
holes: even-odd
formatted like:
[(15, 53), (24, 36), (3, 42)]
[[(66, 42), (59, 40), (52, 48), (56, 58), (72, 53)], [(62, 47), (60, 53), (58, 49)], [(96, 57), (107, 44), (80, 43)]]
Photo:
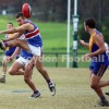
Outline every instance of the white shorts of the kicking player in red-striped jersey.
[[(28, 44), (28, 43), (27, 43), (27, 44)], [(40, 48), (40, 47), (35, 47), (35, 46), (29, 45), (29, 44), (28, 44), (28, 47), (29, 47), (31, 52), (32, 52), (34, 56), (41, 56), (41, 48)]]

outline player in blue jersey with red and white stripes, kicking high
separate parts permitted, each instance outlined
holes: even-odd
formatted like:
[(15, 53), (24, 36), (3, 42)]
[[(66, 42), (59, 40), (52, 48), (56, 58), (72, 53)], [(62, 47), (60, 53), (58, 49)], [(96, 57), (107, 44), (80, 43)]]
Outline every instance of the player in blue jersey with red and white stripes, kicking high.
[[(17, 13), (16, 15), (16, 22), (20, 25), (19, 27), (13, 27), (13, 28), (0, 32), (0, 34), (16, 33), (13, 37), (4, 39), (3, 41), (0, 43), (1, 49), (4, 49), (5, 47), (19, 46), (20, 48), (28, 52), (32, 52), (34, 57), (31, 60), (31, 62), (27, 64), (28, 65), (27, 68), (32, 69), (33, 64), (36, 64), (36, 68), (38, 69), (38, 71), (46, 78), (52, 95), (55, 95), (56, 85), (53, 82), (51, 82), (51, 80), (48, 76), (47, 71), (44, 70), (41, 62), (40, 62), (43, 40), (40, 37), (39, 28), (34, 23), (26, 20), (23, 13), (21, 12)], [(16, 39), (21, 37), (23, 34), (25, 35), (25, 40)], [(13, 41), (10, 43), (9, 40), (13, 40)], [(26, 69), (26, 71), (28, 70)]]

